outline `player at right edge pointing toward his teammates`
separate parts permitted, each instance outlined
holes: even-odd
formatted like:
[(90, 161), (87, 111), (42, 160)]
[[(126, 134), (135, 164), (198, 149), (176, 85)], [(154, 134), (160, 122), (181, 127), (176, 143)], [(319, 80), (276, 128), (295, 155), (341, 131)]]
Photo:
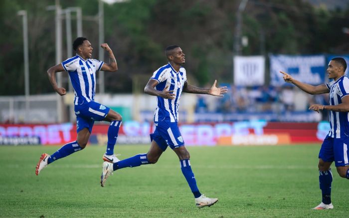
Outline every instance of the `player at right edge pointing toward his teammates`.
[(327, 84), (312, 86), (284, 74), (286, 82), (296, 85), (303, 91), (315, 95), (330, 93), (330, 105), (313, 104), (310, 110), (330, 111), (330, 132), (326, 136), (319, 153), (319, 183), (322, 191), (322, 202), (315, 210), (333, 209), (331, 203), (332, 172), (331, 164), (335, 162), (338, 174), (349, 179), (349, 78), (344, 76), (347, 63), (342, 57), (333, 58), (327, 68), (329, 79)]

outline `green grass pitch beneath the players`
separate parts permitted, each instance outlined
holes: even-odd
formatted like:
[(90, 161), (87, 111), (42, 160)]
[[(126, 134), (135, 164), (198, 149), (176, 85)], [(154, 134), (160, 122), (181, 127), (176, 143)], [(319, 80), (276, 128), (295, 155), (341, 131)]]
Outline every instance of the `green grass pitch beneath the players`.
[[(155, 165), (114, 173), (102, 188), (105, 147), (89, 146), (35, 176), (41, 155), (59, 147), (0, 146), (0, 217), (347, 217), (349, 181), (334, 173), (334, 210), (321, 202), (320, 146), (188, 147), (198, 188), (219, 201), (197, 209), (168, 149)], [(117, 146), (120, 159), (149, 146)], [(333, 166), (334, 167), (334, 166)]]

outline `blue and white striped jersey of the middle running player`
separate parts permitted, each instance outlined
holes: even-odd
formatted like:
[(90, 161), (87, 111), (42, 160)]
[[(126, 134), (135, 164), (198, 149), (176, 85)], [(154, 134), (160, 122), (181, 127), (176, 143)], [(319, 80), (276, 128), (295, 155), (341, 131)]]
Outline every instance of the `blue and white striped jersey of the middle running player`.
[(178, 107), (180, 94), (183, 90), (184, 82), (186, 82), (186, 72), (183, 67), (180, 67), (179, 72), (176, 72), (170, 63), (160, 67), (154, 73), (151, 79), (159, 82), (155, 86), (156, 90), (162, 91), (166, 86), (168, 90), (174, 90), (175, 99), (164, 99), (158, 96), (158, 107), (154, 113), (154, 122), (170, 121), (178, 122)]

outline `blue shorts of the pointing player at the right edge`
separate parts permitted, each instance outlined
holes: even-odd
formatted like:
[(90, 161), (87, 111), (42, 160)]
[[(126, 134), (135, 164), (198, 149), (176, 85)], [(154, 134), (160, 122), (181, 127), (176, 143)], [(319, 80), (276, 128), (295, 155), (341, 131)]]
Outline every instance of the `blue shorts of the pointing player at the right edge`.
[(319, 158), (325, 162), (334, 161), (336, 167), (348, 166), (348, 144), (349, 137), (337, 139), (327, 135), (321, 146)]

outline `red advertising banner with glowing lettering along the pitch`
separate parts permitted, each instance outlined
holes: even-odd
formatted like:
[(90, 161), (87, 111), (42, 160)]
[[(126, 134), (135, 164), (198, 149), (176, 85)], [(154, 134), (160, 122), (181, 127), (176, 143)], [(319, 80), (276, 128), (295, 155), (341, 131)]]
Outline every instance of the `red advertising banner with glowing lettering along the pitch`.
[[(108, 141), (107, 123), (96, 123), (90, 144), (105, 145)], [(179, 124), (185, 145), (280, 145), (321, 143), (330, 125), (321, 123), (281, 123), (243, 121), (228, 123)], [(124, 122), (119, 130), (119, 144), (150, 144), (149, 134), (155, 125), (137, 121)], [(2, 125), (0, 144), (62, 145), (76, 140), (76, 125), (71, 123), (51, 125)]]

